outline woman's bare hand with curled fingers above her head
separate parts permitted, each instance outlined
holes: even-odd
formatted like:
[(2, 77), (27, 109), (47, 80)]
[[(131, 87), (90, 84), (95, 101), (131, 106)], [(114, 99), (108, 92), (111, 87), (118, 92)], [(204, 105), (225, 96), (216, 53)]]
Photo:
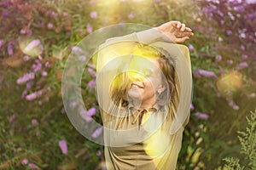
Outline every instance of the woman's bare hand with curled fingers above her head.
[(185, 42), (189, 37), (194, 36), (189, 27), (176, 20), (166, 22), (156, 29), (164, 33), (172, 42)]

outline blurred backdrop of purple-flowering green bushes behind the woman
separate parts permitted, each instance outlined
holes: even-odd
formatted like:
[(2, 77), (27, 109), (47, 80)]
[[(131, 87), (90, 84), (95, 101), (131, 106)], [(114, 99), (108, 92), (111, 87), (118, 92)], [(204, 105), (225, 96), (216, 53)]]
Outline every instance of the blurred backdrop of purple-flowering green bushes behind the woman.
[[(170, 20), (195, 34), (185, 42), (194, 91), (177, 169), (256, 168), (255, 0), (1, 0), (0, 169), (104, 169), (102, 145), (63, 107), (67, 57), (104, 26)], [(94, 65), (82, 81), (87, 114), (100, 120)]]

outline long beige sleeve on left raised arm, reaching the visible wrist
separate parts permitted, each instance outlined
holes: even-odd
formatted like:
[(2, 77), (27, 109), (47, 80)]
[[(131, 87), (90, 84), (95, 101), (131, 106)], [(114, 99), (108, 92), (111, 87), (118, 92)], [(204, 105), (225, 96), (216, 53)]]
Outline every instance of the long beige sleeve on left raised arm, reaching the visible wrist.
[[(113, 105), (109, 96), (109, 87), (113, 78), (124, 68), (125, 55), (132, 54), (137, 42), (152, 43), (163, 40), (165, 36), (154, 28), (134, 32), (123, 37), (108, 38), (97, 51), (93, 59), (97, 71), (97, 99), (103, 111)], [(124, 56), (123, 58), (120, 58)], [(105, 116), (104, 116), (105, 117)], [(103, 117), (102, 117), (103, 118)]]

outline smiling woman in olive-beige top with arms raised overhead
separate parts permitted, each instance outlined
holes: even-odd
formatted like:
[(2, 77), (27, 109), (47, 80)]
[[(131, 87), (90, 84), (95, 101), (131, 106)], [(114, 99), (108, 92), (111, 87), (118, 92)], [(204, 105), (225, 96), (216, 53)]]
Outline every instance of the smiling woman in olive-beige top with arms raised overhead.
[[(96, 89), (108, 169), (175, 169), (189, 120), (183, 100), (191, 95), (191, 87), (184, 88), (191, 72), (188, 49), (170, 42), (191, 36), (191, 29), (170, 21), (100, 48)], [(188, 78), (178, 78), (186, 66)]]

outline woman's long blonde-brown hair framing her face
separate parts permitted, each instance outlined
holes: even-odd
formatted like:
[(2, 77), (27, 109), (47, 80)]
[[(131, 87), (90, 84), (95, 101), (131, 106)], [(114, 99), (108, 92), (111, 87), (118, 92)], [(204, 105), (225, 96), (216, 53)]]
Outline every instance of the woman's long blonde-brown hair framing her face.
[[(164, 92), (157, 95), (156, 103), (159, 105), (167, 106), (168, 118), (174, 118), (177, 112), (177, 105), (179, 102), (178, 87), (179, 83), (175, 79), (175, 60), (163, 48), (154, 48), (152, 46), (137, 42), (134, 48), (133, 55), (143, 56), (148, 59), (157, 59), (162, 71), (162, 83), (166, 87)], [(124, 67), (124, 65), (121, 65)], [(163, 81), (164, 80), (164, 81)], [(115, 105), (125, 107), (128, 105), (127, 93), (131, 87), (131, 78), (127, 72), (121, 72), (114, 77), (110, 87), (110, 95)]]

